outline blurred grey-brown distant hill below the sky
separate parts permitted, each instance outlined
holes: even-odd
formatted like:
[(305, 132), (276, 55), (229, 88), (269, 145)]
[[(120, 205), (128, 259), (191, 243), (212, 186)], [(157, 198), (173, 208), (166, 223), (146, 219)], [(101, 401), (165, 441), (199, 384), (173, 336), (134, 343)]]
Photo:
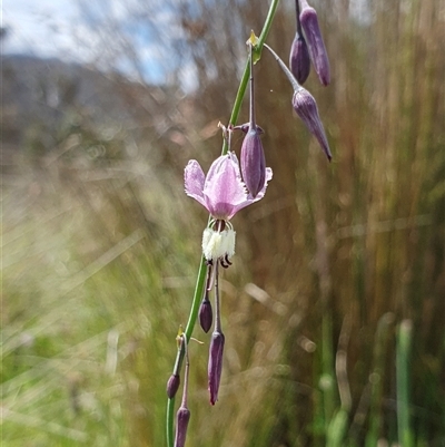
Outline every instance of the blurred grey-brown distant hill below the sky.
[(28, 150), (30, 140), (36, 154), (50, 153), (73, 127), (92, 134), (105, 127), (139, 129), (139, 137), (165, 134), (175, 128), (171, 116), (184, 99), (177, 88), (31, 56), (3, 56), (1, 77), (6, 164), (8, 154)]

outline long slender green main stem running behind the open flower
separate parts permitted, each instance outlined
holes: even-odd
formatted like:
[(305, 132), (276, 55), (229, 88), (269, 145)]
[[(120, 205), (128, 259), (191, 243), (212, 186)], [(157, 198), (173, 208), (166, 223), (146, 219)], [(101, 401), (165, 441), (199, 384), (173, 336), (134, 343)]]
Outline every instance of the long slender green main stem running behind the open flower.
[[(265, 25), (263, 27), (257, 46), (255, 48), (255, 55), (256, 55), (257, 61), (259, 60), (259, 58), (261, 56), (263, 45), (265, 43), (267, 36), (269, 35), (275, 13), (277, 11), (278, 3), (279, 3), (279, 0), (273, 0), (270, 3)], [(247, 58), (246, 67), (244, 69), (244, 74), (243, 74), (243, 77), (241, 77), (241, 80), (239, 84), (238, 93), (235, 98), (234, 108), (231, 110), (229, 125), (235, 126), (236, 122), (238, 120), (243, 99), (245, 97), (247, 84), (249, 81), (249, 76), (250, 76), (250, 66), (249, 66), (249, 58)], [(224, 138), (221, 155), (226, 155), (228, 149), (229, 149), (228, 142), (226, 140), (226, 138)], [(210, 217), (209, 217), (209, 222), (210, 222)], [(198, 271), (198, 278), (197, 278), (196, 286), (195, 286), (194, 300), (191, 302), (190, 314), (189, 314), (186, 330), (184, 333), (186, 343), (188, 343), (190, 340), (191, 333), (194, 332), (196, 320), (198, 318), (199, 303), (202, 298), (204, 285), (205, 285), (205, 281), (206, 281), (206, 271), (207, 271), (206, 260), (204, 259), (204, 256), (201, 256), (201, 261), (199, 264), (199, 271)], [(181, 349), (178, 350), (177, 356), (182, 356)], [(177, 357), (176, 361), (179, 361), (178, 357)], [(175, 398), (167, 400), (167, 415), (166, 415), (167, 447), (174, 447), (174, 419), (175, 419), (174, 412), (175, 412)]]

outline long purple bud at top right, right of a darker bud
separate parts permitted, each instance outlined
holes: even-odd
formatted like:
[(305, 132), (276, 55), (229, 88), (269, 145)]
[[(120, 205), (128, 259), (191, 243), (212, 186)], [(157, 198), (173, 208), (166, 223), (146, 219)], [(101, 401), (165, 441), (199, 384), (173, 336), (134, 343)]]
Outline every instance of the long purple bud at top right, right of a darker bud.
[(317, 71), (318, 79), (324, 86), (327, 86), (330, 82), (329, 60), (318, 26), (317, 12), (307, 4), (306, 0), (301, 0), (301, 6), (299, 21), (309, 47), (310, 59), (313, 60), (315, 71)]

